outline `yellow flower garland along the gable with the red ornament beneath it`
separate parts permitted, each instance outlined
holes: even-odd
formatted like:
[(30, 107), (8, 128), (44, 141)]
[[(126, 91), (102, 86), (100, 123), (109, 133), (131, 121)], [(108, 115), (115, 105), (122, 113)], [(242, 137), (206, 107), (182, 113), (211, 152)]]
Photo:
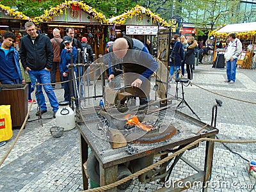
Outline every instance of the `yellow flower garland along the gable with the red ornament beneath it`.
[(88, 6), (87, 4), (77, 1), (65, 1), (58, 6), (52, 7), (50, 10), (45, 10), (44, 14), (40, 17), (35, 17), (35, 19), (33, 19), (33, 22), (35, 22), (35, 24), (39, 24), (40, 22), (52, 20), (52, 16), (58, 15), (58, 13), (62, 14), (63, 10), (67, 8), (72, 8), (72, 4), (74, 4), (74, 6), (78, 4), (81, 10), (92, 15), (94, 19), (97, 19), (103, 23), (107, 22), (105, 15), (97, 12), (95, 9), (93, 9), (91, 6)]

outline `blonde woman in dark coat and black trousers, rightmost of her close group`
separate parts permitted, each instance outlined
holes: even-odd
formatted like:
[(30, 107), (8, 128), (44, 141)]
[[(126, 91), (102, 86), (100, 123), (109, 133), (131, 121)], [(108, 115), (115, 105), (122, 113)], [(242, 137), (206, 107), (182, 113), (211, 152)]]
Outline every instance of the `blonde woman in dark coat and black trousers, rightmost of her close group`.
[(193, 65), (195, 65), (195, 48), (197, 46), (197, 42), (193, 36), (189, 36), (188, 38), (188, 48), (185, 51), (185, 63), (186, 70), (188, 73), (188, 79), (193, 79)]

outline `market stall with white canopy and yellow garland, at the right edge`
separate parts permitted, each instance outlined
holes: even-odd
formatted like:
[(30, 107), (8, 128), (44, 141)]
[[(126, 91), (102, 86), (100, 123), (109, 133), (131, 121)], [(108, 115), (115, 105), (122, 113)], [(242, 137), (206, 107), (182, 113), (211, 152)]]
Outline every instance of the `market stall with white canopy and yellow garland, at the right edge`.
[(218, 54), (224, 54), (227, 46), (227, 36), (230, 33), (236, 33), (237, 38), (241, 40), (243, 45), (243, 51), (237, 59), (237, 67), (252, 68), (252, 58), (256, 52), (256, 22), (229, 24), (220, 29), (211, 31), (209, 36), (215, 36), (216, 42), (213, 61), (216, 60)]

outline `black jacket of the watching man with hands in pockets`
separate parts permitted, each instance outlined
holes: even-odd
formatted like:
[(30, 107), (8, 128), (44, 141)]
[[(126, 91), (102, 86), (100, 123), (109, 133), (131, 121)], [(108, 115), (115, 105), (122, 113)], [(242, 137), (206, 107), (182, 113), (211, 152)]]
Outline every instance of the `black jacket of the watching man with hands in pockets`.
[(38, 34), (33, 44), (29, 35), (20, 39), (20, 61), (23, 68), (42, 70), (45, 67), (52, 68), (53, 51), (51, 40), (48, 36)]

